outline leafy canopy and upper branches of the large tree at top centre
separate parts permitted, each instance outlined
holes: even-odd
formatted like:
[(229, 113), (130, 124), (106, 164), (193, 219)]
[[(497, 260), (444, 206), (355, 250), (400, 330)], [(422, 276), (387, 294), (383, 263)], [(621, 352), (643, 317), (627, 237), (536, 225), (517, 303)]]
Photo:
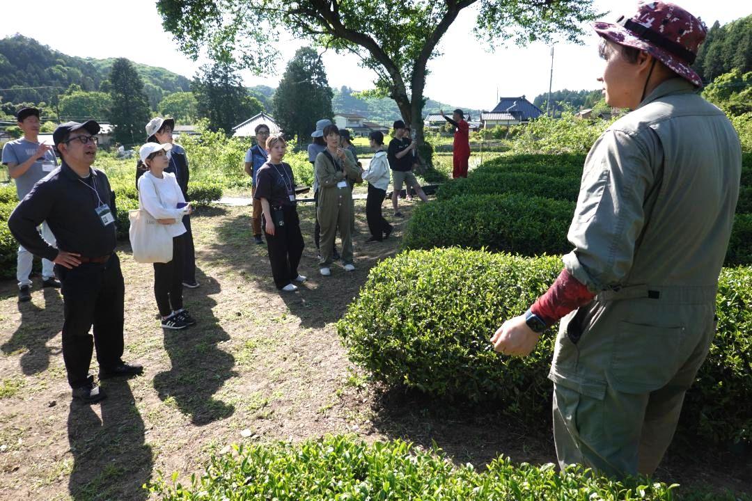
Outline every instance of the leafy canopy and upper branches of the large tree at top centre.
[(574, 41), (582, 23), (599, 16), (592, 0), (159, 0), (157, 7), (165, 29), (194, 58), (206, 48), (213, 59), (235, 59), (260, 72), (276, 56), (282, 34), (356, 54), (376, 73), (375, 91), (396, 101), (420, 139), (426, 65), (459, 12), (474, 4), (476, 33), (492, 43), (554, 35)]

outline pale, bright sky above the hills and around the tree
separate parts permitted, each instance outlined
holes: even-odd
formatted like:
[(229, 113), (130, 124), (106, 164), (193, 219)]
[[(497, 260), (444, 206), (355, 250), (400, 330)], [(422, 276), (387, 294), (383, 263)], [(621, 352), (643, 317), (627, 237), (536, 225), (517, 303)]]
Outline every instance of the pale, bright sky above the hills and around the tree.
[[(87, 4), (71, 2), (7, 2), (3, 5), (6, 20), (0, 37), (20, 32), (53, 49), (71, 56), (127, 57), (136, 62), (161, 66), (193, 77), (199, 64), (177, 51), (171, 35), (162, 29), (153, 0), (101, 0)], [(710, 26), (715, 20), (722, 24), (752, 14), (752, 3), (741, 0), (682, 0), (676, 2), (702, 18)], [(85, 7), (84, 7), (85, 5)], [(635, 10), (636, 2), (596, 0), (600, 11), (611, 11), (605, 20)], [(33, 22), (24, 23), (24, 20)], [(12, 22), (11, 22), (12, 21)], [(442, 103), (476, 109), (491, 109), (499, 96), (535, 95), (546, 92), (550, 73), (550, 47), (533, 44), (522, 48), (511, 46), (496, 53), (487, 53), (472, 35), (475, 16), (463, 11), (441, 42), (443, 55), (429, 63), (432, 72), (426, 84), (426, 95)], [(556, 44), (554, 50), (553, 89), (597, 89), (596, 77), (602, 68), (596, 47), (598, 38), (588, 30), (583, 45)], [(74, 35), (80, 35), (76, 40)], [(89, 40), (83, 42), (80, 40)], [(287, 60), (302, 42), (284, 41), (276, 68), (269, 68), (263, 77), (243, 74), (247, 85), (277, 86)], [(323, 56), (329, 84), (368, 89), (370, 71), (357, 67), (353, 56), (326, 53)]]

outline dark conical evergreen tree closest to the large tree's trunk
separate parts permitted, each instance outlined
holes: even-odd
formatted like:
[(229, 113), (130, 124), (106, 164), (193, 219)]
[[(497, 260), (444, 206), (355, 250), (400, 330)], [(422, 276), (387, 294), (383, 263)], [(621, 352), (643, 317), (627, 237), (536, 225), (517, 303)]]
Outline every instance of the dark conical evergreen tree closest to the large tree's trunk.
[(332, 117), (332, 89), (318, 54), (297, 50), (274, 92), (274, 118), (288, 137), (308, 137), (316, 121)]

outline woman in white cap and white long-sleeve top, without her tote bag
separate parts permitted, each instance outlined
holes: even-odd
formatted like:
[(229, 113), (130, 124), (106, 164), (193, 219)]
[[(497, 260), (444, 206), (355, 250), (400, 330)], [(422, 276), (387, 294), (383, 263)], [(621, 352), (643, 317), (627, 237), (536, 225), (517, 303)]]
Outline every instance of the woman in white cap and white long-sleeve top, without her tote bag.
[(165, 172), (170, 163), (167, 153), (171, 143), (146, 143), (139, 158), (146, 166), (138, 180), (138, 205), (162, 225), (168, 225), (172, 235), (172, 261), (154, 263), (154, 296), (162, 327), (184, 329), (196, 320), (183, 309), (183, 216), (191, 213), (175, 175)]

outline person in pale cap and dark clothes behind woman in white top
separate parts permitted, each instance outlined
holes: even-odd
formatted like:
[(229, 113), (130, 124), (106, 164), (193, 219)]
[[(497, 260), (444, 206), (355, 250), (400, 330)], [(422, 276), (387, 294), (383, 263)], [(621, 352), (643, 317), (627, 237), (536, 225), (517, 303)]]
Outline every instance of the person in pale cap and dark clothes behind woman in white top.
[[(155, 116), (146, 125), (147, 143), (171, 144), (172, 149), (167, 153), (168, 166), (165, 172), (175, 175), (177, 185), (183, 192), (183, 198), (188, 198), (188, 181), (190, 180), (190, 171), (188, 169), (188, 158), (186, 150), (179, 144), (175, 144), (172, 139), (172, 131), (175, 128), (175, 121), (171, 118), (163, 119), (161, 116)], [(136, 168), (136, 183), (141, 174), (144, 174), (144, 166), (141, 161)], [(183, 285), (188, 288), (196, 288), (199, 282), (196, 282), (196, 250), (193, 248), (193, 231), (190, 227), (190, 216), (183, 217), (183, 225), (186, 232), (183, 234)]]

